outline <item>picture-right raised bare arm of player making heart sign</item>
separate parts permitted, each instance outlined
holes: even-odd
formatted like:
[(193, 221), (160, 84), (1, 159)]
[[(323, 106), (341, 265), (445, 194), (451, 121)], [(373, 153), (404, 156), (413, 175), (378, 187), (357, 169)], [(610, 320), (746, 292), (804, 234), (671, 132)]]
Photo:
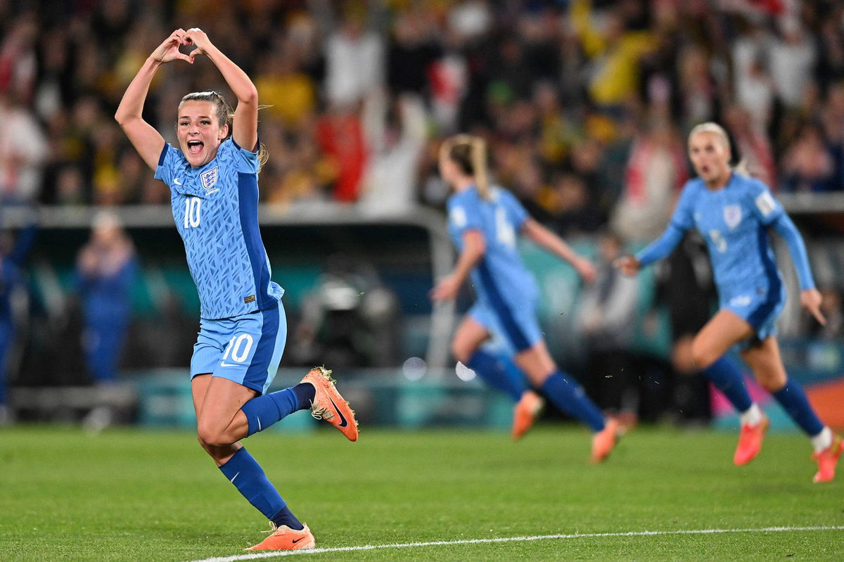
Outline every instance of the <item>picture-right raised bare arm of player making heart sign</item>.
[(203, 30), (196, 27), (185, 34), (187, 45), (196, 45), (191, 54), (191, 62), (197, 55), (205, 55), (214, 62), (225, 78), (225, 83), (237, 98), (235, 118), (231, 126), (231, 138), (242, 149), (256, 150), (258, 143), (258, 91), (255, 84), (240, 67), (231, 62), (211, 41)]

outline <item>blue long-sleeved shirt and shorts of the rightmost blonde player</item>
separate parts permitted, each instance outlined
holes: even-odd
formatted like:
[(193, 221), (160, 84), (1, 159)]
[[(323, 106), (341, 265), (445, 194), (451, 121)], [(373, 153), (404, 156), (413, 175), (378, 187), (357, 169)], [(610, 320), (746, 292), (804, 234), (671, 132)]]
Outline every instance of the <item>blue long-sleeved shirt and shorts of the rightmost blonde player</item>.
[(801, 289), (814, 288), (802, 238), (768, 187), (755, 178), (733, 173), (718, 190), (708, 189), (700, 178), (688, 181), (668, 229), (637, 257), (641, 265), (667, 256), (691, 228), (706, 239), (721, 308), (744, 318), (760, 339), (774, 333), (785, 300), (769, 229), (786, 240)]

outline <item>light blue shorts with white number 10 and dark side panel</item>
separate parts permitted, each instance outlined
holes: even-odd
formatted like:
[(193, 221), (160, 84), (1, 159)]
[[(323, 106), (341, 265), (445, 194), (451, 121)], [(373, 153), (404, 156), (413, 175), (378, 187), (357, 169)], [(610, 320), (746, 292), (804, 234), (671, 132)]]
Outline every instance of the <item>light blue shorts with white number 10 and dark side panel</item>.
[(284, 306), (224, 320), (202, 320), (193, 346), (191, 378), (211, 373), (261, 394), (279, 369), (287, 340)]

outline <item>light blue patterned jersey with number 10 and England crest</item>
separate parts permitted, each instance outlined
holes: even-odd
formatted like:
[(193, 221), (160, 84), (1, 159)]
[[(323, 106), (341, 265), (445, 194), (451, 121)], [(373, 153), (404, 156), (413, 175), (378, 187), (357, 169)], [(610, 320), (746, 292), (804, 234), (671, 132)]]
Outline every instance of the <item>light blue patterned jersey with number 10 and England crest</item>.
[(279, 305), (258, 230), (258, 157), (228, 138), (208, 164), (192, 168), (165, 143), (155, 178), (170, 186), (173, 219), (185, 243), (201, 316), (232, 318)]

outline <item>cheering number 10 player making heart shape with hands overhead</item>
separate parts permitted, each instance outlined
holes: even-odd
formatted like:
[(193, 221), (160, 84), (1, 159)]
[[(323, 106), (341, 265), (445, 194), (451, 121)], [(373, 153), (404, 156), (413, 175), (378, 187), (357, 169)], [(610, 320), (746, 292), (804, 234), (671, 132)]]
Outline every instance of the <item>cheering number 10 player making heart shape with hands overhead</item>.
[[(196, 48), (186, 55), (182, 45)], [(143, 121), (143, 101), (155, 71), (166, 62), (193, 63), (205, 55), (237, 97), (234, 115), (215, 92), (182, 98), (178, 148)], [(296, 410), (311, 408), (349, 440), (358, 437), (354, 413), (324, 368), (301, 383), (265, 394), (279, 366), (287, 336), (281, 295), (270, 281), (267, 252), (258, 231), (257, 91), (241, 68), (202, 30), (176, 30), (153, 51), (129, 84), (115, 118), (170, 186), (176, 229), (197, 285), (202, 318), (191, 359), (191, 391), (199, 443), (235, 488), (270, 520), (272, 534), (250, 549), (313, 548), (314, 537), (270, 484), (240, 440)]]

